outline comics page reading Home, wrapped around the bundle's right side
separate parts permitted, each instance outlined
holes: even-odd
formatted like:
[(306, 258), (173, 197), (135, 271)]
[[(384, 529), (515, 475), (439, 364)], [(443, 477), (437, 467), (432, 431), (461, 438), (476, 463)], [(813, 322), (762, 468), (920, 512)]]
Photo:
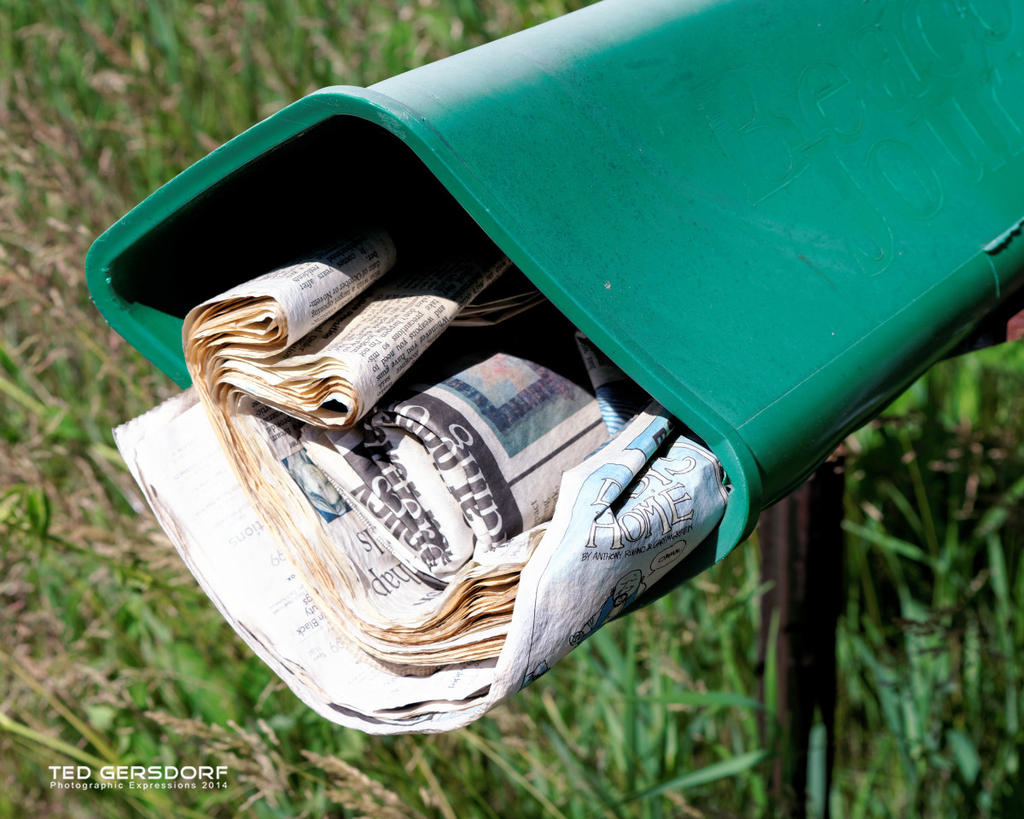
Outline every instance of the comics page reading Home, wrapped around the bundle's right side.
[(536, 680), (708, 537), (728, 500), (718, 459), (656, 402), (565, 473), (524, 567), (492, 699)]

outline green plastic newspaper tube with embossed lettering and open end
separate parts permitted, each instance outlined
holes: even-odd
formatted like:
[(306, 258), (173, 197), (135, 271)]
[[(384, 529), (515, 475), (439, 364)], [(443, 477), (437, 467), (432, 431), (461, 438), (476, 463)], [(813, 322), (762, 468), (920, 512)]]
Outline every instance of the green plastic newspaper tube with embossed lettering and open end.
[(468, 214), (722, 461), (691, 574), (1021, 284), (1022, 41), (1011, 0), (605, 0), (289, 105), (103, 233), (89, 287), (184, 386), (191, 305)]

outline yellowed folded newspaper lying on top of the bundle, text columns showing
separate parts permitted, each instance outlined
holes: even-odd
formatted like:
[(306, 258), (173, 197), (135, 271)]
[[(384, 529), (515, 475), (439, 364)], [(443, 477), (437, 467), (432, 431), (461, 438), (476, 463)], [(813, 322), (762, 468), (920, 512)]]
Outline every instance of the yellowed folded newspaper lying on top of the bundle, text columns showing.
[(227, 408), (249, 395), (307, 423), (350, 426), (510, 266), (441, 258), (356, 298), (395, 257), (390, 236), (372, 230), (190, 310), (182, 344), (200, 395)]

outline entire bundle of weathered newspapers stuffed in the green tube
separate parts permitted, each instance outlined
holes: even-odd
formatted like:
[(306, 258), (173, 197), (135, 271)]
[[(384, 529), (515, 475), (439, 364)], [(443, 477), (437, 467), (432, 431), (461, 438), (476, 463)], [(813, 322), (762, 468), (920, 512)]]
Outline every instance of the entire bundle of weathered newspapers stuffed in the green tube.
[(193, 387), (115, 430), (243, 640), (372, 733), (477, 719), (656, 585), (727, 500), (717, 459), (587, 339), (590, 383), (558, 372), (540, 297), (496, 249), (396, 257), (368, 230), (196, 307)]

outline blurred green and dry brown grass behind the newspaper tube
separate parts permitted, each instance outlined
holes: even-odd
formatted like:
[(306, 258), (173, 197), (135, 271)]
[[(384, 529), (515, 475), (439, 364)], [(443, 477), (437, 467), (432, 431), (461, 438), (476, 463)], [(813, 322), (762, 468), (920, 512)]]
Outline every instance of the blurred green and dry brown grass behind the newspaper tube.
[[(0, 0), (0, 816), (770, 815), (756, 538), (474, 727), (381, 739), (304, 708), (197, 590), (112, 426), (173, 386), (89, 304), (91, 241), (314, 88), (579, 0)], [(1013, 815), (1024, 353), (936, 368), (849, 441), (841, 817)], [(767, 715), (772, 724), (772, 715)], [(820, 736), (818, 736), (820, 738)], [(224, 764), (216, 791), (54, 791), (47, 766)]]

